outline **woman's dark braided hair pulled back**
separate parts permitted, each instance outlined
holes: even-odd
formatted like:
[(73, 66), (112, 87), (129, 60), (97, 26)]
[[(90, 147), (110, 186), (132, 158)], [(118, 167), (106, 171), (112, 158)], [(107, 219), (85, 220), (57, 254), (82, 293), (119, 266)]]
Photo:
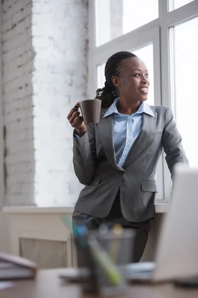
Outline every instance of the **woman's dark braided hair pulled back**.
[(112, 76), (120, 74), (120, 64), (128, 58), (137, 58), (131, 52), (118, 52), (112, 55), (105, 65), (105, 86), (96, 90), (95, 99), (102, 101), (102, 108), (110, 107), (114, 100), (119, 97), (118, 90), (112, 82)]

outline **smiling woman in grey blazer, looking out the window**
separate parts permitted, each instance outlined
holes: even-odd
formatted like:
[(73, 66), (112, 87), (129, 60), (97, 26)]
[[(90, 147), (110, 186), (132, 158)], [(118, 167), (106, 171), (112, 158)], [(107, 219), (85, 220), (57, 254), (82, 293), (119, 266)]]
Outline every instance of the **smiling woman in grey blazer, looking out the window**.
[(101, 223), (134, 228), (132, 261), (138, 262), (154, 218), (155, 173), (162, 149), (172, 177), (174, 165), (188, 159), (171, 109), (146, 103), (148, 70), (137, 56), (111, 56), (105, 78), (104, 88), (96, 91), (102, 101), (100, 123), (86, 127), (76, 108), (67, 116), (74, 127), (74, 171), (85, 185), (72, 220), (89, 229)]

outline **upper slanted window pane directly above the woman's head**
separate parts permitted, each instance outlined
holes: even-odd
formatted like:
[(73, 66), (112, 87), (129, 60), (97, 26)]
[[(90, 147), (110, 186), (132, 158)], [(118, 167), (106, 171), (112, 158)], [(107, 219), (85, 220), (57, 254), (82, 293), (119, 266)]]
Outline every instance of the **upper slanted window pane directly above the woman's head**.
[(158, 18), (158, 0), (95, 0), (96, 47)]

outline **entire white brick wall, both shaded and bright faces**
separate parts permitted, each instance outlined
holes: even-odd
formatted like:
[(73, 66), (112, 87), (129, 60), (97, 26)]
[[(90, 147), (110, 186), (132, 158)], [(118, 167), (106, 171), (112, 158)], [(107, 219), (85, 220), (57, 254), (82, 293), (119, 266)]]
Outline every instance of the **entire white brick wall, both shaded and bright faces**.
[(66, 115), (86, 97), (87, 35), (87, 0), (3, 3), (9, 205), (66, 205), (78, 197)]

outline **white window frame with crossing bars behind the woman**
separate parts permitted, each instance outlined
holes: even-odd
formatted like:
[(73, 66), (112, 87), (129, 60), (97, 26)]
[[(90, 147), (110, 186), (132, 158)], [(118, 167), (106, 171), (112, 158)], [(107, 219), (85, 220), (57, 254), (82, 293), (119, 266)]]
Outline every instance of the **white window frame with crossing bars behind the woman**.
[[(95, 46), (94, 0), (89, 0), (89, 56), (88, 85), (89, 98), (95, 97), (97, 89), (97, 65), (104, 63), (112, 54), (123, 50), (136, 50), (150, 42), (153, 43), (154, 96), (155, 105), (171, 107), (170, 88), (170, 49), (169, 28), (198, 16), (198, 0), (194, 0), (169, 12), (169, 0), (159, 0), (159, 17), (110, 42)], [(157, 185), (159, 194), (157, 203), (169, 203), (171, 194), (171, 176), (162, 153), (157, 168)]]

